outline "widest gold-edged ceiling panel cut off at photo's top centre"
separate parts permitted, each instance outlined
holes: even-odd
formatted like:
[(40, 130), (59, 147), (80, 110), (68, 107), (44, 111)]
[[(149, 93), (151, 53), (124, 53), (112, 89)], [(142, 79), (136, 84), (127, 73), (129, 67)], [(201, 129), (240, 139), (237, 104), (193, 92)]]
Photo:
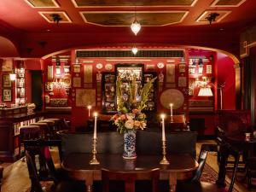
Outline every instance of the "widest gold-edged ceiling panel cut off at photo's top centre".
[(140, 0), (140, 1), (119, 1), (119, 0), (72, 0), (75, 7), (108, 7), (108, 6), (193, 6), (197, 0)]

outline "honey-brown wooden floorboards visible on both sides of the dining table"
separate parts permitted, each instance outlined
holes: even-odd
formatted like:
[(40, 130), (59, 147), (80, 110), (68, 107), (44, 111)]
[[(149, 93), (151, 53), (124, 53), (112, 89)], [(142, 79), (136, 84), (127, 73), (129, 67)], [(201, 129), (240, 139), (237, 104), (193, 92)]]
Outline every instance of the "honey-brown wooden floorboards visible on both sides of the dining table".
[[(196, 152), (197, 154), (200, 151), (202, 143), (214, 143), (212, 140), (200, 141), (196, 144)], [(55, 148), (52, 149), (52, 154), (54, 157), (57, 156), (57, 151)], [(54, 158), (55, 162), (58, 161), (58, 158)], [(218, 164), (217, 164), (217, 156), (216, 154), (208, 154), (207, 156), (207, 164), (212, 166), (212, 168), (218, 172)], [(3, 186), (2, 192), (25, 192), (26, 189), (30, 186), (30, 180), (28, 177), (26, 161), (18, 160), (14, 164), (4, 163), (1, 166), (4, 166), (3, 171)], [(236, 189), (241, 192), (247, 192), (247, 188), (244, 184), (241, 184), (236, 181), (235, 183)], [(253, 189), (252, 191), (256, 191)]]

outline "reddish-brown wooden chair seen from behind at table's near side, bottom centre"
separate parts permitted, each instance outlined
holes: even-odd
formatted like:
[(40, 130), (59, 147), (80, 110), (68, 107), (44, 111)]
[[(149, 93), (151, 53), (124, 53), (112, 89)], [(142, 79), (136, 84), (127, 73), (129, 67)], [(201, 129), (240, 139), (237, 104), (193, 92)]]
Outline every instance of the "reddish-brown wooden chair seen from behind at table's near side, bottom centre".
[[(159, 169), (152, 170), (136, 170), (130, 172), (121, 171), (110, 171), (107, 169), (102, 169), (102, 188), (103, 192), (113, 192), (114, 189), (110, 187), (110, 181), (123, 181), (125, 182), (125, 192), (135, 192), (135, 183), (137, 180), (151, 180), (152, 192), (158, 191), (158, 182), (160, 177)], [(111, 190), (110, 190), (111, 189)], [(117, 191), (120, 191), (117, 189)], [(148, 191), (148, 190), (147, 190)]]

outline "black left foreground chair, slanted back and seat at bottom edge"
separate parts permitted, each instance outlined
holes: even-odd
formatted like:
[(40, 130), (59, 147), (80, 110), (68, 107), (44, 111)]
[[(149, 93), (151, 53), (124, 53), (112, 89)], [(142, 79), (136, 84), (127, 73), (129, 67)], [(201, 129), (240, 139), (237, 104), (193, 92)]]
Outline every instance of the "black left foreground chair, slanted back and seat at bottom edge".
[(35, 161), (32, 159), (32, 156), (30, 155), (29, 151), (26, 151), (26, 163), (27, 163), (27, 169), (29, 172), (29, 178), (31, 179), (31, 192), (84, 192), (85, 191), (85, 185), (83, 182), (75, 182), (75, 181), (65, 181), (65, 182), (59, 182), (53, 186), (51, 186), (49, 189), (43, 190), (37, 168), (35, 165)]

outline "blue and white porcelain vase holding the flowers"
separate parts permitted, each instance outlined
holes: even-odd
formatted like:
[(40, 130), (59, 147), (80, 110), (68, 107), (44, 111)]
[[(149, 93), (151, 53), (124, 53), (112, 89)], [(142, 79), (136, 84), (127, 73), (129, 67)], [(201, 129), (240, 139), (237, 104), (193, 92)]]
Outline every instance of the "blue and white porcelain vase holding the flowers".
[(124, 159), (135, 159), (136, 154), (136, 131), (129, 130), (124, 133)]

